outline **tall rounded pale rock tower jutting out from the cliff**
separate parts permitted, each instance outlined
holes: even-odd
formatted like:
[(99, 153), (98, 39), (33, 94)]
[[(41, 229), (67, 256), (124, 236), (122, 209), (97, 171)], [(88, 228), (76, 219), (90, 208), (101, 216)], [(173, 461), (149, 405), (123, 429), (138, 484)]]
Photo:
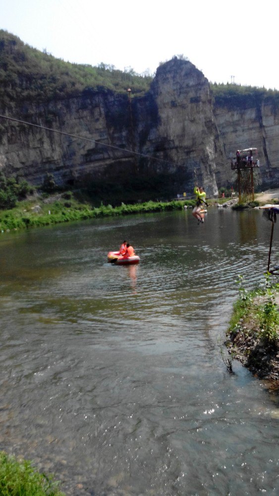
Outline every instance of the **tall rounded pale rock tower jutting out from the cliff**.
[(208, 195), (218, 193), (216, 152), (221, 143), (213, 116), (208, 80), (190, 62), (173, 59), (157, 69), (151, 88), (158, 107), (156, 133), (150, 133), (148, 148), (163, 148), (162, 157), (184, 171), (184, 188), (197, 180)]

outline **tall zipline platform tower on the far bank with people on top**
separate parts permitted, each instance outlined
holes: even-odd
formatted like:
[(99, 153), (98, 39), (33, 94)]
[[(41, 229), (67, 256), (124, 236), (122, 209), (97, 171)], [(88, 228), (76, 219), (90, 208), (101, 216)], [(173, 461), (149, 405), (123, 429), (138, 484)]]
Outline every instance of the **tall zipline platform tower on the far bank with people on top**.
[(253, 171), (260, 167), (260, 162), (254, 159), (253, 153), (257, 153), (257, 148), (237, 150), (231, 160), (231, 169), (237, 172), (238, 203), (254, 201)]

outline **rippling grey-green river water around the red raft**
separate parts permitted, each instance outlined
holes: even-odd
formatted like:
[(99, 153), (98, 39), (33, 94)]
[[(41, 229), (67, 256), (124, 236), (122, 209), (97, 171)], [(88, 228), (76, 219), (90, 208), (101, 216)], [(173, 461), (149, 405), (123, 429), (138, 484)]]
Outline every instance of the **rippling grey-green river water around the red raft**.
[[(270, 233), (213, 207), (2, 234), (0, 449), (67, 495), (278, 494), (279, 398), (220, 353)], [(139, 265), (107, 263), (123, 239)]]

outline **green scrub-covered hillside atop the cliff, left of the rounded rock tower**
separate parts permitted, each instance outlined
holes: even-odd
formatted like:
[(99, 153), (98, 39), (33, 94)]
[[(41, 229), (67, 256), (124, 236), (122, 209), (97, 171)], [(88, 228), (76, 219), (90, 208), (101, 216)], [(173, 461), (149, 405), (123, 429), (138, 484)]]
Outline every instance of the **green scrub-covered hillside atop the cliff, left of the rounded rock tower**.
[(127, 73), (105, 63), (93, 67), (64, 62), (24, 44), (17, 36), (0, 30), (2, 105), (24, 100), (46, 102), (67, 98), (80, 95), (88, 88), (126, 93), (127, 87), (132, 86), (133, 94), (140, 94), (149, 90), (152, 79), (151, 74), (140, 75), (133, 69)]

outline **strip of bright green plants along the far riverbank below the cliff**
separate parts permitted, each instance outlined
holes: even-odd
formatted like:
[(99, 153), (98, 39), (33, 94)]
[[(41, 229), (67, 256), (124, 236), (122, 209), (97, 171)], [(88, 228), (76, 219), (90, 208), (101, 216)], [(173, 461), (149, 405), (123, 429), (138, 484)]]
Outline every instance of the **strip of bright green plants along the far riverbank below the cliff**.
[(100, 217), (112, 217), (117, 215), (129, 215), (146, 212), (163, 212), (170, 210), (182, 210), (184, 205), (193, 206), (194, 200), (173, 200), (170, 202), (148, 201), (135, 205), (122, 203), (117, 207), (103, 205), (92, 207), (88, 203), (79, 203), (68, 193), (68, 198), (28, 200), (18, 202), (11, 210), (0, 211), (0, 231), (26, 229), (29, 227), (48, 226), (60, 222), (80, 221)]

